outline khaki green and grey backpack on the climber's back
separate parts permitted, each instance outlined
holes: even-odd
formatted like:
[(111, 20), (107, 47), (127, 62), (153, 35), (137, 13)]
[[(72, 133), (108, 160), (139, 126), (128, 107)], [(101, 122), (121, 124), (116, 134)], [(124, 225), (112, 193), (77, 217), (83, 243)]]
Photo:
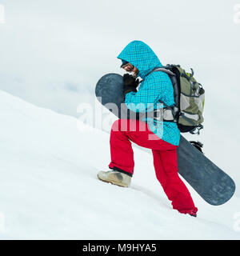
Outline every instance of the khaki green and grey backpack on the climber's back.
[(205, 90), (194, 78), (194, 70), (191, 69), (190, 74), (186, 73), (179, 65), (168, 64), (167, 66), (155, 68), (150, 73), (155, 71), (162, 71), (168, 74), (174, 86), (176, 106), (167, 106), (165, 102), (160, 101), (165, 108), (163, 121), (177, 122), (178, 129), (182, 133), (190, 132), (195, 134), (194, 131), (197, 130), (199, 134), (199, 130), (203, 128), (202, 112), (205, 102)]

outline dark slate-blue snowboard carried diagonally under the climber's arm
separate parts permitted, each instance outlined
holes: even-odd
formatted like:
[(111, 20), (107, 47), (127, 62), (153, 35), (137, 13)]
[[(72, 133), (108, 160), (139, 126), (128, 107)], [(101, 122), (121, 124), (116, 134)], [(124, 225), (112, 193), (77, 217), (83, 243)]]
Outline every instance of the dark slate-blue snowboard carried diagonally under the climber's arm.
[[(120, 74), (106, 74), (97, 82), (95, 94), (98, 101), (118, 118), (131, 118), (123, 98), (123, 79)], [(115, 105), (113, 105), (114, 103)], [(117, 106), (117, 107), (116, 107)], [(121, 107), (122, 106), (122, 109)], [(232, 178), (206, 158), (200, 150), (181, 135), (177, 150), (178, 174), (210, 205), (219, 206), (234, 194)]]

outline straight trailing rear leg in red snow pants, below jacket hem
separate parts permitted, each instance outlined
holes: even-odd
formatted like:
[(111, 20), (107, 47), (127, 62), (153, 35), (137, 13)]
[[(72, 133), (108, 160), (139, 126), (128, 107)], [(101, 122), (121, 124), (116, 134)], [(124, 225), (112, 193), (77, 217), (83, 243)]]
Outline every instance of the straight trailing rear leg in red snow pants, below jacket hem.
[(186, 185), (178, 176), (177, 147), (174, 150), (152, 150), (156, 177), (172, 206), (182, 214), (196, 214), (198, 208)]

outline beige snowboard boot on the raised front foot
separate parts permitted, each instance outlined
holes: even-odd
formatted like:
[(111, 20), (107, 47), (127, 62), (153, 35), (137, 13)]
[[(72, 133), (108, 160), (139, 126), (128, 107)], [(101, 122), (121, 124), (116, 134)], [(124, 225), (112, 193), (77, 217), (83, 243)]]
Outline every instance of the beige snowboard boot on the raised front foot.
[(99, 171), (98, 178), (102, 182), (110, 182), (118, 186), (130, 186), (131, 177), (127, 174), (123, 174), (118, 170)]

